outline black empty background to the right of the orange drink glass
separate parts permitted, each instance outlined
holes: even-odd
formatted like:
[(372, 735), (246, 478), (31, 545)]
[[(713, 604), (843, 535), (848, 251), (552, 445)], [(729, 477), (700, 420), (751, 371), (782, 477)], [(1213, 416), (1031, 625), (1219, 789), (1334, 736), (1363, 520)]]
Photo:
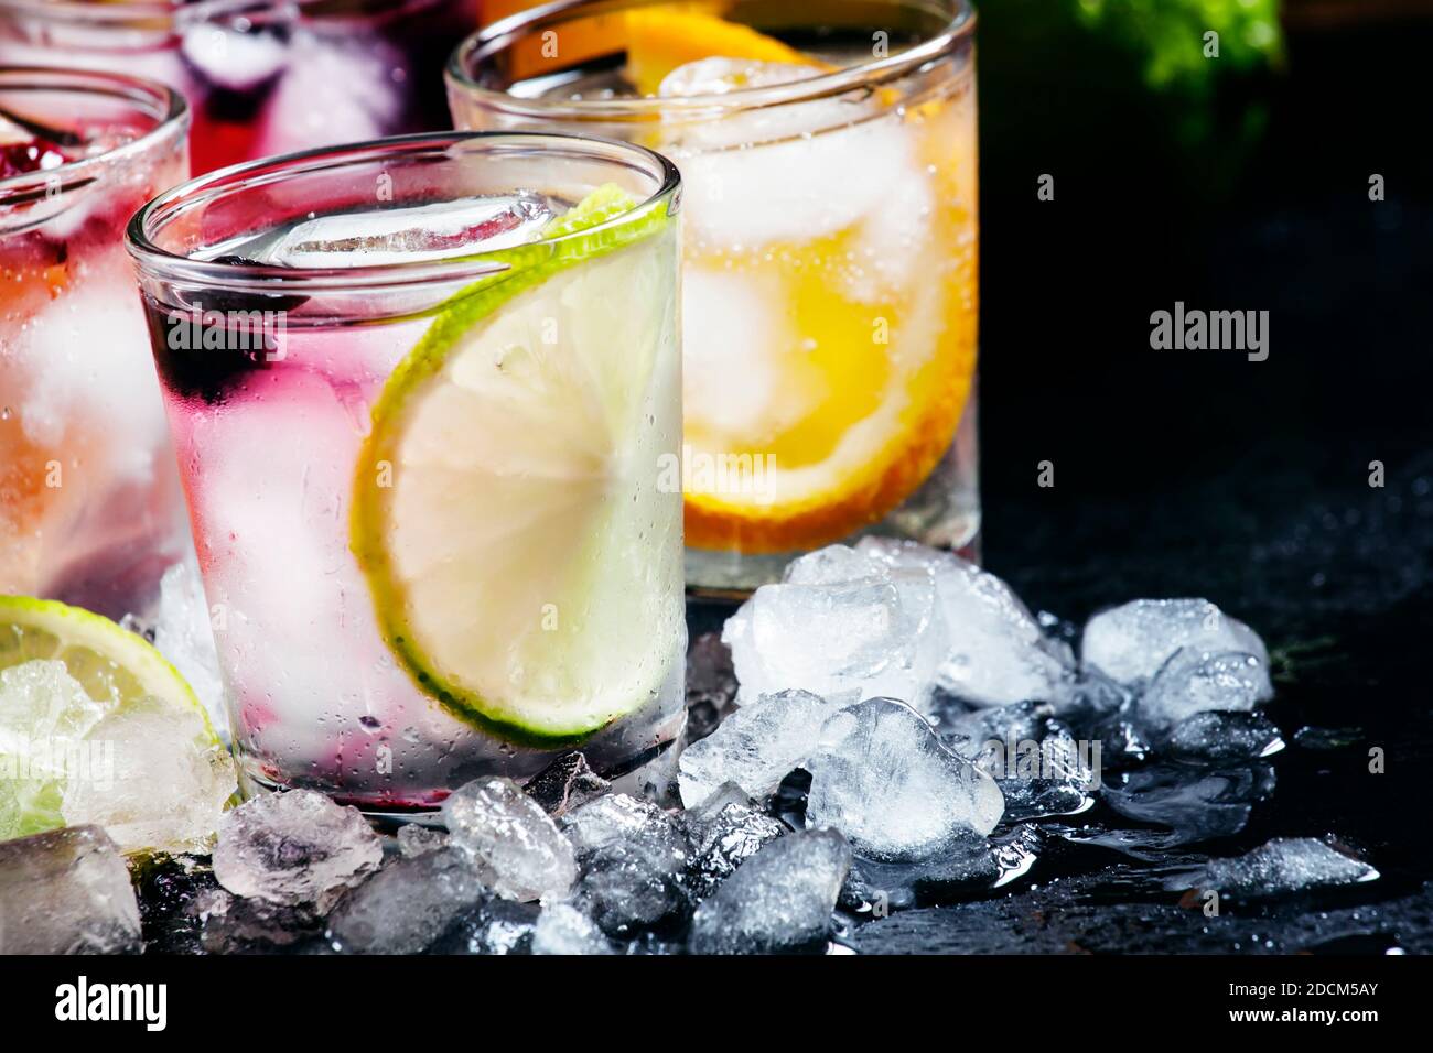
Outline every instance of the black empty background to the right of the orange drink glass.
[[(1333, 834), (1384, 872), (1360, 893), (1380, 901), (1433, 877), (1433, 7), (1326, 7), (1285, 4), (1283, 69), (1221, 86), (1192, 136), (1184, 102), (1106, 90), (1098, 49), (1030, 54), (982, 9), (983, 553), (1076, 622), (1192, 595), (1258, 629), (1291, 746), (1208, 851)], [(1268, 360), (1151, 350), (1176, 299), (1270, 311)], [(1305, 725), (1354, 744), (1304, 749)]]

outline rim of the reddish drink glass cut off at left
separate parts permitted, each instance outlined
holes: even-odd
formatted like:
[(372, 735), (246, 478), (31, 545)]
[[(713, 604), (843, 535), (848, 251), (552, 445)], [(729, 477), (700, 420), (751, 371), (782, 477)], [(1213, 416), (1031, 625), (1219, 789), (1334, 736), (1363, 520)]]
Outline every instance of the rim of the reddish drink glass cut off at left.
[[(24, 205), (56, 193), (67, 193), (103, 179), (103, 173), (116, 160), (128, 160), (149, 152), (156, 143), (172, 136), (179, 129), (179, 138), (188, 136), (189, 103), (182, 93), (146, 77), (132, 77), (128, 73), (103, 73), (99, 70), (73, 70), (56, 66), (0, 66), (0, 90), (34, 87), (36, 90), (107, 90), (113, 97), (133, 102), (136, 107), (153, 105), (156, 123), (142, 135), (115, 149), (96, 153), (93, 158), (69, 160), (56, 168), (36, 172), (21, 172), (0, 179), (0, 208)], [(59, 182), (59, 191), (53, 189)]]

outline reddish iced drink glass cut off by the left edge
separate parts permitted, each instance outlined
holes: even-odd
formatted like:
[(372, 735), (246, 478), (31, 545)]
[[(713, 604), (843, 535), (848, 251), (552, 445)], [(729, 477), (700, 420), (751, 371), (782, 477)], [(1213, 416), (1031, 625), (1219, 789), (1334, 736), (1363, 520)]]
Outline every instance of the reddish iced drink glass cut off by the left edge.
[(123, 245), (188, 123), (160, 85), (0, 69), (0, 593), (142, 615), (188, 553)]

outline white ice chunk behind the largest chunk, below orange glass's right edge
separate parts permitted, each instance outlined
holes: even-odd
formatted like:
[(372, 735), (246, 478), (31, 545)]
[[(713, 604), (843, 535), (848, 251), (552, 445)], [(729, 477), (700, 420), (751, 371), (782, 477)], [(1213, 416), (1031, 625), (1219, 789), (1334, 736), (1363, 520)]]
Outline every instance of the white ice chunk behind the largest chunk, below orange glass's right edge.
[(1069, 693), (1075, 660), (1066, 645), (1046, 638), (1010, 586), (973, 563), (939, 549), (888, 537), (864, 537), (858, 552), (893, 567), (926, 569), (947, 633), (940, 686), (973, 705), (1002, 706)]

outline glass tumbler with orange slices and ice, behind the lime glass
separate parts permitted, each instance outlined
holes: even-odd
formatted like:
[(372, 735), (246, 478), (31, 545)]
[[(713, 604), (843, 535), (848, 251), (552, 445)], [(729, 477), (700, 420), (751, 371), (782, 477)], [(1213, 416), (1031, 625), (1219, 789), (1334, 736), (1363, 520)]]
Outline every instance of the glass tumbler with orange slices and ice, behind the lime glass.
[(577, 0), (449, 63), (459, 128), (682, 170), (695, 592), (867, 533), (976, 543), (973, 33), (963, 0)]

